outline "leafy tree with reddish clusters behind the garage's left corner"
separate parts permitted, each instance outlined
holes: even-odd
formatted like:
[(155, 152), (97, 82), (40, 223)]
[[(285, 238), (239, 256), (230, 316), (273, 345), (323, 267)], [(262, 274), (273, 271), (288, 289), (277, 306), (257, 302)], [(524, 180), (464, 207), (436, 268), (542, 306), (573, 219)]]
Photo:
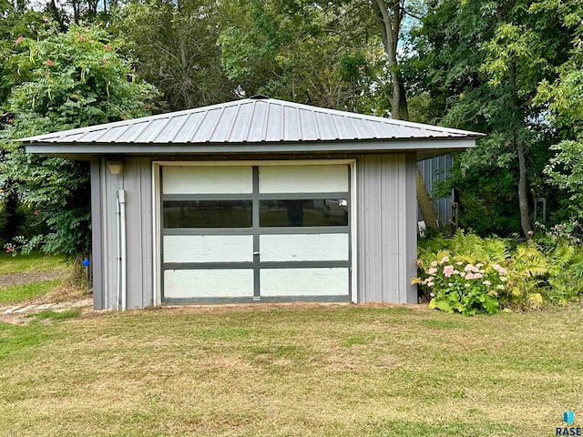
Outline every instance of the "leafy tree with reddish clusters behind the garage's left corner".
[(38, 39), (17, 38), (15, 54), (26, 82), (15, 86), (4, 110), (10, 123), (0, 132), (7, 157), (3, 178), (12, 178), (19, 195), (46, 218), (51, 233), (30, 241), (46, 251), (76, 254), (90, 241), (87, 165), (61, 158), (27, 155), (11, 140), (56, 130), (148, 115), (156, 90), (133, 74), (119, 56), (121, 41), (97, 25), (71, 25), (65, 33), (50, 23)]

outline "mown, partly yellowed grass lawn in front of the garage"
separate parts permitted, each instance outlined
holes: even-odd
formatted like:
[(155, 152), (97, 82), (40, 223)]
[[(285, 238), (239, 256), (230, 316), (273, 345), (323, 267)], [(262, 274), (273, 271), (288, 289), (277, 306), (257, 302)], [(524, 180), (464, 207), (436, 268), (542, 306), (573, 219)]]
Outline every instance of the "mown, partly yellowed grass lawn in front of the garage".
[(51, 319), (0, 324), (0, 435), (550, 436), (583, 413), (578, 309)]

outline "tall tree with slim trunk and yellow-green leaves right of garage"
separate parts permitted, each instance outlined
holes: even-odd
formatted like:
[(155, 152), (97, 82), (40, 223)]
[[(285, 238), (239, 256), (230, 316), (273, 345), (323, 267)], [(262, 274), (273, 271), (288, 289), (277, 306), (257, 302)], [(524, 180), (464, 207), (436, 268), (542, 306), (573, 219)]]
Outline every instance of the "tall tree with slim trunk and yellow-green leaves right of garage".
[(554, 136), (535, 98), (537, 85), (554, 75), (570, 46), (555, 17), (532, 4), (432, 3), (416, 40), (424, 90), (441, 107), (443, 123), (489, 134), (461, 157), (462, 167), (515, 175), (520, 228), (527, 238), (533, 231), (531, 190), (547, 189), (540, 157), (547, 156)]

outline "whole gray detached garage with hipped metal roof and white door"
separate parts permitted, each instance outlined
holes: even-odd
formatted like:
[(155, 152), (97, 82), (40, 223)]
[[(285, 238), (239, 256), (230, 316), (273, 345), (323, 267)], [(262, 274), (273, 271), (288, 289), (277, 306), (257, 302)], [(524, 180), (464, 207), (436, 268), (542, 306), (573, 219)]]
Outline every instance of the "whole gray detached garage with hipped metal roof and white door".
[(474, 132), (251, 97), (23, 140), (91, 162), (96, 309), (415, 302), (416, 161)]

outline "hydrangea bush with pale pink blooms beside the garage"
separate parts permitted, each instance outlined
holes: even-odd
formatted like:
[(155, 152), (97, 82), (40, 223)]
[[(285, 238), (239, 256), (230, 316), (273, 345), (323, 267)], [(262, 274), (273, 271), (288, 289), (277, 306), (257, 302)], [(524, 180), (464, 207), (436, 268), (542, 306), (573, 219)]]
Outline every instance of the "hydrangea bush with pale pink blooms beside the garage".
[(501, 265), (473, 264), (448, 256), (434, 259), (428, 266), (421, 260), (418, 264), (421, 275), (413, 283), (430, 290), (429, 308), (465, 316), (498, 312), (498, 297), (506, 290), (508, 273)]

